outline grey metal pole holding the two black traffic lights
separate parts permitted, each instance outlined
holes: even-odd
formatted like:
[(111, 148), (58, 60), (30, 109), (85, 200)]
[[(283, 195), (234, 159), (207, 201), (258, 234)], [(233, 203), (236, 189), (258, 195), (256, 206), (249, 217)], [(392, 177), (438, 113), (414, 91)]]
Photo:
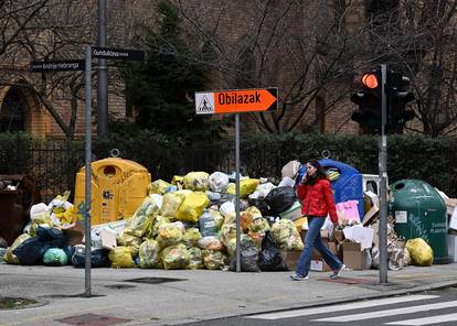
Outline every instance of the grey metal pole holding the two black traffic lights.
[(380, 283), (387, 283), (387, 97), (386, 80), (387, 66), (381, 65), (381, 137), (379, 144), (379, 173), (380, 173)]

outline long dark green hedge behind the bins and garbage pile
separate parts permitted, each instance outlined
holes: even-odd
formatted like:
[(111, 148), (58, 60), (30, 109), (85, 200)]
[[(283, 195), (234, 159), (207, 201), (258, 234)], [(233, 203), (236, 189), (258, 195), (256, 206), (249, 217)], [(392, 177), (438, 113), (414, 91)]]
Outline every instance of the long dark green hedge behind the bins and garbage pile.
[[(344, 162), (364, 174), (378, 174), (378, 137), (289, 133), (242, 137), (242, 173), (253, 177), (280, 177), (290, 160), (305, 162), (322, 157)], [(118, 149), (120, 156), (146, 166), (152, 180), (170, 181), (190, 171), (232, 172), (234, 141), (184, 145), (172, 138), (150, 131), (110, 134), (93, 140), (94, 160), (109, 157)], [(454, 138), (391, 135), (387, 139), (390, 183), (418, 178), (457, 197), (457, 142)], [(73, 189), (76, 171), (84, 165), (84, 141), (33, 140), (24, 133), (0, 133), (0, 174), (31, 173), (40, 186), (56, 194)]]

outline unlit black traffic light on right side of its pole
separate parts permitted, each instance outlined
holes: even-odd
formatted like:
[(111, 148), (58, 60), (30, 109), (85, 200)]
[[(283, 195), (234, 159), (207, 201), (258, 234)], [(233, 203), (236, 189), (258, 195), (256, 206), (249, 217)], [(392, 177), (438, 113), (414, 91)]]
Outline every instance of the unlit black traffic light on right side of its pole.
[(414, 100), (414, 95), (407, 91), (410, 78), (401, 73), (390, 70), (386, 84), (389, 129), (403, 129), (406, 121), (415, 116), (413, 110), (407, 110), (405, 107)]

